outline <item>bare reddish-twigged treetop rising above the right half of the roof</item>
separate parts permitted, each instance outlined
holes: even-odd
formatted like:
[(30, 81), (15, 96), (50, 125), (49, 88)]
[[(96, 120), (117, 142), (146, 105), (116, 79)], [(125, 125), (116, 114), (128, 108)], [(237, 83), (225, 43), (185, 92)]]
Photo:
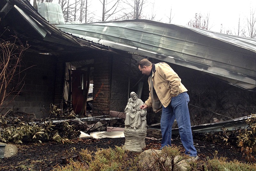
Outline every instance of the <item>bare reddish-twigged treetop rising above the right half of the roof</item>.
[(194, 20), (191, 19), (188, 22), (188, 26), (195, 27), (195, 28), (201, 28), (201, 29), (205, 29), (205, 30), (210, 30), (209, 20), (210, 20), (210, 14), (207, 14), (207, 16), (205, 16), (205, 18), (203, 18), (201, 13), (199, 13), (199, 14), (196, 13), (195, 19)]

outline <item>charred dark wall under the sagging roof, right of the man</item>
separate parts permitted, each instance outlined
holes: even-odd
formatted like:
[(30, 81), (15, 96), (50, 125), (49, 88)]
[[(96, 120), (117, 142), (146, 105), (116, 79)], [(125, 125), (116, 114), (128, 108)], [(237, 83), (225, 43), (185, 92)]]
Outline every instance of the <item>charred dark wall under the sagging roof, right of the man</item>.
[(170, 66), (188, 89), (192, 125), (213, 122), (214, 117), (229, 120), (256, 113), (256, 92), (235, 87), (190, 68)]

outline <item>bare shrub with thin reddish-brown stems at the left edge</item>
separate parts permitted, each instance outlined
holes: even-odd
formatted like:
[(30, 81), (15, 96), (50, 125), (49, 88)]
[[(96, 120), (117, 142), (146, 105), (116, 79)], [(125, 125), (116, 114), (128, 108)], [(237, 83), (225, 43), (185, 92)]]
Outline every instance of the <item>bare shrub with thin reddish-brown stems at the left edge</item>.
[(16, 36), (8, 40), (0, 39), (0, 112), (20, 93), (24, 85), (24, 77), (20, 78), (20, 67), (22, 54), (27, 49), (28, 44), (23, 46)]

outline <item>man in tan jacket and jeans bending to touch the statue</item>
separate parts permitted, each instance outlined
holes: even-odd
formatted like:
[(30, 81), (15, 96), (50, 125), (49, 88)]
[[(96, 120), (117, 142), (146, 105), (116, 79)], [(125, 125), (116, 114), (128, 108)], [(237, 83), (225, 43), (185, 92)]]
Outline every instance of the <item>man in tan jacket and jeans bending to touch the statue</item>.
[(180, 77), (164, 62), (152, 64), (149, 60), (142, 59), (138, 67), (142, 74), (149, 76), (148, 85), (150, 91), (148, 100), (143, 105), (140, 105), (140, 108), (152, 107), (155, 112), (160, 111), (162, 108), (160, 121), (162, 132), (161, 149), (164, 146), (171, 146), (172, 124), (176, 117), (185, 154), (197, 159), (188, 111), (188, 90), (181, 83)]

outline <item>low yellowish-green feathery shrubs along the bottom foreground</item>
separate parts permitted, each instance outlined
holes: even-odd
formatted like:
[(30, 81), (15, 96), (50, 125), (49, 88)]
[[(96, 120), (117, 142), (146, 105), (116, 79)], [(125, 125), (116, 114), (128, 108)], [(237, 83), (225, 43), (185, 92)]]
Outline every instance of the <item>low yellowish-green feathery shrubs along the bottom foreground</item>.
[[(74, 149), (76, 150), (76, 149)], [(129, 157), (128, 152), (125, 152), (122, 147), (117, 147), (115, 149), (108, 148), (108, 149), (102, 149), (98, 148), (96, 152), (91, 152), (88, 149), (82, 149), (81, 152), (79, 152), (79, 156), (74, 161), (71, 159), (72, 156), (71, 152), (67, 152), (67, 157), (69, 158), (66, 166), (58, 166), (53, 169), (53, 171), (125, 171), (125, 170), (148, 170), (147, 167), (140, 167), (139, 168), (139, 159), (137, 155), (132, 155), (135, 157)], [(155, 165), (158, 165), (157, 167), (150, 167), (150, 168), (156, 168), (155, 170), (162, 170), (162, 171), (168, 171), (178, 169), (175, 165), (172, 166), (172, 168), (167, 167), (160, 167), (164, 166), (164, 163), (162, 162), (164, 158), (174, 159), (177, 155), (180, 154), (180, 149), (176, 147), (167, 147), (162, 150), (160, 154), (156, 154), (156, 159), (161, 160), (161, 162), (154, 161)], [(186, 156), (180, 155), (179, 161), (186, 159)], [(166, 161), (167, 162), (167, 161)], [(169, 162), (169, 161), (168, 161)], [(178, 162), (178, 161), (177, 161)], [(157, 169), (158, 168), (158, 169)], [(149, 169), (152, 170), (152, 169)], [(206, 162), (203, 160), (196, 161), (196, 162), (190, 162), (190, 165), (188, 166), (187, 170), (204, 170), (204, 171), (255, 171), (256, 170), (256, 164), (245, 164), (241, 163), (237, 160), (234, 161), (227, 161), (227, 158), (218, 158), (217, 157), (217, 151), (214, 155), (213, 159), (207, 159)]]

